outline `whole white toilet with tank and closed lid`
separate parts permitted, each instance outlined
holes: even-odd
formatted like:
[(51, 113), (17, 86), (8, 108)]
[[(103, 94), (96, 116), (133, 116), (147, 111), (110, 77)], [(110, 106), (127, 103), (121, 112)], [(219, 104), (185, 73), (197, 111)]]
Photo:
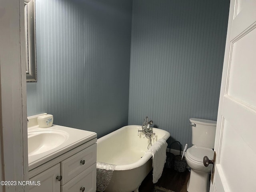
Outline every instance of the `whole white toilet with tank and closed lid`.
[(185, 156), (188, 166), (190, 166), (190, 179), (187, 184), (188, 192), (208, 192), (209, 174), (212, 165), (204, 166), (203, 158), (208, 156), (213, 159), (213, 148), (216, 132), (216, 121), (190, 118), (192, 125), (192, 144), (188, 148)]

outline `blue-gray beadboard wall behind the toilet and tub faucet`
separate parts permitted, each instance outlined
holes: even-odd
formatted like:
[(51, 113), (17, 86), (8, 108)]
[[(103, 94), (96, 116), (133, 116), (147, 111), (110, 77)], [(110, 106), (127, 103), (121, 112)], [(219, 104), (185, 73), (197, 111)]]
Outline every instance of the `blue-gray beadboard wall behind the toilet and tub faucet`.
[(189, 118), (216, 120), (228, 0), (134, 0), (128, 124), (145, 116), (191, 145)]

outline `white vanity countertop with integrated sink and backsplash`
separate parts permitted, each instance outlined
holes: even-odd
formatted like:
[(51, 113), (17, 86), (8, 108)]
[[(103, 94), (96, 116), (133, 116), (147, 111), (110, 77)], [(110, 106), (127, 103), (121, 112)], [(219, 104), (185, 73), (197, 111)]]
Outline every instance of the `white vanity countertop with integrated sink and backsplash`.
[(95, 132), (60, 125), (40, 128), (37, 125), (37, 117), (38, 115), (28, 119), (28, 170), (97, 137)]

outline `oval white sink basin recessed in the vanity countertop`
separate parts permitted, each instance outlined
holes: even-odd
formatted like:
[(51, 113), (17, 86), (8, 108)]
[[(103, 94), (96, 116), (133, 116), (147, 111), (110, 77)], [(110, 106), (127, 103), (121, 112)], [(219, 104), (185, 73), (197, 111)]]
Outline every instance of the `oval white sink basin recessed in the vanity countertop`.
[(68, 140), (68, 133), (61, 130), (36, 130), (28, 132), (28, 156), (50, 151)]

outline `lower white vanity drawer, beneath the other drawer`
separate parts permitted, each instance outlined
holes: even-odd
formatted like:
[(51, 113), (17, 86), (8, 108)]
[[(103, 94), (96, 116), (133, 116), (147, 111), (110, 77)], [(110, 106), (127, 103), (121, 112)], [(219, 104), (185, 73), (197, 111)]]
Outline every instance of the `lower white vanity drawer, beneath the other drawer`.
[(95, 192), (96, 191), (96, 163), (80, 173), (78, 176), (61, 186), (62, 192)]

